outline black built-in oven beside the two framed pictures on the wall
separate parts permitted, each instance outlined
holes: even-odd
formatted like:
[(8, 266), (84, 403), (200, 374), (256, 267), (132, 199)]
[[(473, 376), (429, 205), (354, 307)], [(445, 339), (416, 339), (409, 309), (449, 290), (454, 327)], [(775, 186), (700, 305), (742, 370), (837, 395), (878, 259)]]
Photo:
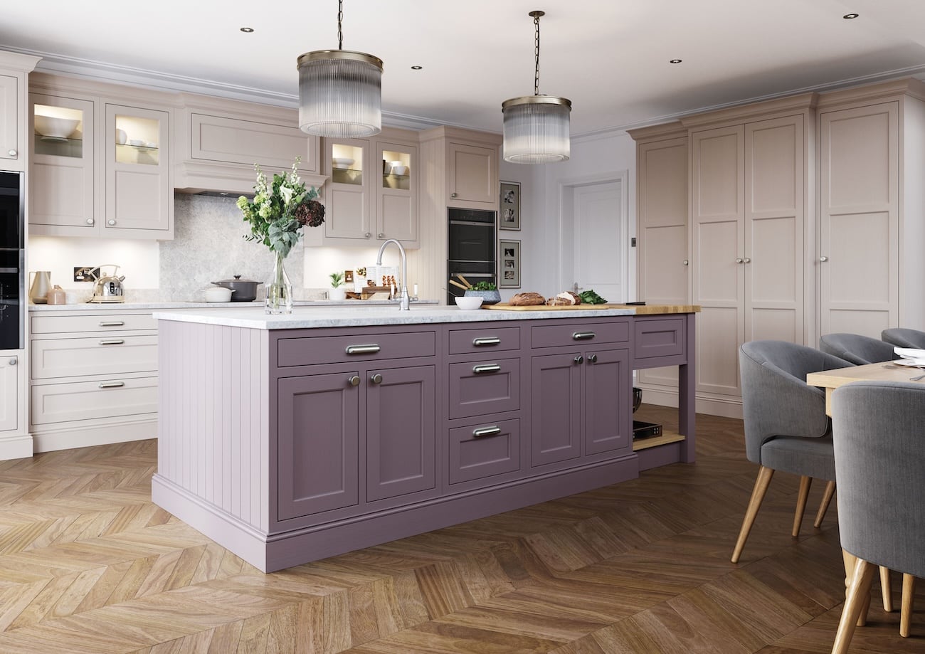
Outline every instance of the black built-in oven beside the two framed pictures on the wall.
[[(448, 278), (459, 281), (462, 275), (471, 284), (496, 284), (497, 213), (450, 207), (448, 217)], [(448, 284), (447, 303), (452, 304), (453, 298), (462, 293), (459, 287)]]

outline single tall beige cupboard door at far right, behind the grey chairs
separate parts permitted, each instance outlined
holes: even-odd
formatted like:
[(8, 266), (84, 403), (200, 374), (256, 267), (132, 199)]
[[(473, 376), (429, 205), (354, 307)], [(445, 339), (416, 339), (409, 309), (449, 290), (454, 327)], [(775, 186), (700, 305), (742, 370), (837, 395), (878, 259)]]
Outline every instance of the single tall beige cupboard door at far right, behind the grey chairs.
[(821, 114), (820, 162), (821, 333), (880, 338), (898, 325), (897, 103)]

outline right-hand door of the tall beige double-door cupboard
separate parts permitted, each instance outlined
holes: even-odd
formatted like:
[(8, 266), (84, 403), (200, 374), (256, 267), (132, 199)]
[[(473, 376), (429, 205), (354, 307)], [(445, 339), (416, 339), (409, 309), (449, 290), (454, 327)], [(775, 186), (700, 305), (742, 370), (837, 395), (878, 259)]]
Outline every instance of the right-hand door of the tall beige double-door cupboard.
[(744, 340), (803, 342), (803, 117), (746, 124)]

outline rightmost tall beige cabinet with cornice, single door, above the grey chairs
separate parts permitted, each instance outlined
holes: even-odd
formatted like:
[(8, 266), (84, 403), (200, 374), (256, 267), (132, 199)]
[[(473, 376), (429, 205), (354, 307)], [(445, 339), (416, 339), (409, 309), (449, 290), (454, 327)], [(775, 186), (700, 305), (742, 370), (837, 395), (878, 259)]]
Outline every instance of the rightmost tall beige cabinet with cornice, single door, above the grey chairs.
[(822, 334), (925, 328), (923, 100), (918, 80), (820, 97)]

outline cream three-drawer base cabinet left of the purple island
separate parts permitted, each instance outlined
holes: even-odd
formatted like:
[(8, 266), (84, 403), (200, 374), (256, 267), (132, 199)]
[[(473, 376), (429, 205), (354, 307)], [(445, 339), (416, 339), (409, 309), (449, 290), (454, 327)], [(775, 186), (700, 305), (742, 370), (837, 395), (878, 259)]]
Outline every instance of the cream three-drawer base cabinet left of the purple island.
[(157, 325), (149, 313), (32, 312), (35, 451), (154, 438)]

